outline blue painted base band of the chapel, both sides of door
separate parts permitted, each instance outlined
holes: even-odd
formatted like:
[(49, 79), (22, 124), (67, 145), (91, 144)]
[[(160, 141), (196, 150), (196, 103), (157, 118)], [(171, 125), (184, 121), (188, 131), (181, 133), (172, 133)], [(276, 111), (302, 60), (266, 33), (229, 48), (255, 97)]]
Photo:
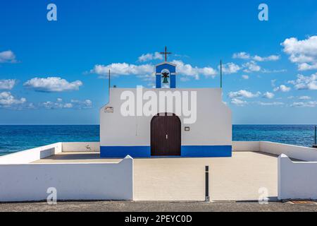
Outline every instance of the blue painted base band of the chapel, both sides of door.
[[(231, 157), (232, 145), (182, 145), (180, 157)], [(100, 157), (151, 157), (150, 146), (101, 146)], [(175, 157), (175, 156), (174, 156)]]

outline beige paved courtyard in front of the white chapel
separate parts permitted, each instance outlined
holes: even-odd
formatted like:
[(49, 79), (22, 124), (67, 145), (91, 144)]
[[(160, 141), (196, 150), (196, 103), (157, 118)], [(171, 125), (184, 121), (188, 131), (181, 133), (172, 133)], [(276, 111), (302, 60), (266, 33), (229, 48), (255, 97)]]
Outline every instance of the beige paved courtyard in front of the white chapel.
[[(36, 162), (119, 162), (99, 153), (61, 153)], [(278, 196), (278, 158), (256, 152), (233, 152), (232, 157), (139, 158), (134, 161), (136, 201), (204, 201), (205, 165), (210, 170), (213, 201), (258, 200), (265, 188), (270, 200)]]

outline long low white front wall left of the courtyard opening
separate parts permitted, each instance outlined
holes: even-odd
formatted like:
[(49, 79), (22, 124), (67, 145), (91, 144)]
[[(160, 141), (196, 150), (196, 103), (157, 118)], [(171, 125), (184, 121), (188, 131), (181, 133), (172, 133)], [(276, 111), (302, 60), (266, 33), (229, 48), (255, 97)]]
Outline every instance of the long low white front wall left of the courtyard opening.
[(49, 187), (58, 200), (132, 200), (133, 160), (0, 165), (0, 201), (46, 200)]

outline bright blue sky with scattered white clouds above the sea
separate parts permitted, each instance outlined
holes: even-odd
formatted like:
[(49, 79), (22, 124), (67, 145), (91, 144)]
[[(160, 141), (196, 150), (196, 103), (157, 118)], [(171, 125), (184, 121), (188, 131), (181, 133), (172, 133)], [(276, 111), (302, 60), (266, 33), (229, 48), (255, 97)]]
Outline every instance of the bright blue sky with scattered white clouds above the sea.
[(1, 1), (0, 124), (99, 124), (104, 72), (151, 87), (165, 46), (180, 88), (218, 87), (223, 60), (234, 124), (317, 124), (316, 28), (313, 0)]

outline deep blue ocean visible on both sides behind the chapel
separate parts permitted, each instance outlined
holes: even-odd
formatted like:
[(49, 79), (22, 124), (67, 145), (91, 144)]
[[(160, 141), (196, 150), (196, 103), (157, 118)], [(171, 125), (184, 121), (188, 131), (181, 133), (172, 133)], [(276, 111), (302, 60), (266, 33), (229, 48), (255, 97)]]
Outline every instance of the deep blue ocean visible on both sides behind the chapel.
[[(61, 141), (99, 141), (99, 125), (0, 126), (0, 155)], [(311, 147), (314, 125), (233, 125), (232, 141), (273, 141)]]

